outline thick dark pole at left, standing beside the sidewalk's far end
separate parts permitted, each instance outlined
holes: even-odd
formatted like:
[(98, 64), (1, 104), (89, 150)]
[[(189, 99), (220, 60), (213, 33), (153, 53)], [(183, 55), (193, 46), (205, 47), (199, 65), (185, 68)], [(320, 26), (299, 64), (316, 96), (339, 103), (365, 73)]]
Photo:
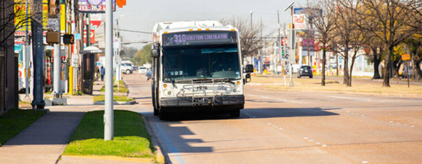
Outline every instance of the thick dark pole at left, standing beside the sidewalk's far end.
[[(43, 109), (45, 102), (43, 100), (43, 1), (33, 0), (31, 13), (34, 15), (31, 19), (32, 26), (32, 55), (34, 65), (34, 89), (32, 108)], [(59, 58), (60, 59), (60, 58)]]

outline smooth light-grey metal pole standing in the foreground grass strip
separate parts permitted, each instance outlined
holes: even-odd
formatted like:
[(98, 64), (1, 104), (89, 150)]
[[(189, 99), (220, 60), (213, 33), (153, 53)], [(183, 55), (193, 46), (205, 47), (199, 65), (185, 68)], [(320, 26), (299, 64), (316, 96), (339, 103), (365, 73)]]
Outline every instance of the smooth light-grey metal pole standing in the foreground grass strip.
[(113, 140), (113, 0), (106, 0), (106, 97), (104, 105), (104, 140)]

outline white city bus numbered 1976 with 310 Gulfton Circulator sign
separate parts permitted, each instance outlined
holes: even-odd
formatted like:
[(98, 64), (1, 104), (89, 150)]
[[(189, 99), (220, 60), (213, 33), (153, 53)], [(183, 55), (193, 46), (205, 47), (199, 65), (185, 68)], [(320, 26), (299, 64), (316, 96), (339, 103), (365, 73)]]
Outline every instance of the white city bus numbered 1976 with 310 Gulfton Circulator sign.
[(235, 27), (217, 21), (157, 23), (151, 56), (154, 115), (219, 110), (239, 117), (253, 66), (242, 71)]

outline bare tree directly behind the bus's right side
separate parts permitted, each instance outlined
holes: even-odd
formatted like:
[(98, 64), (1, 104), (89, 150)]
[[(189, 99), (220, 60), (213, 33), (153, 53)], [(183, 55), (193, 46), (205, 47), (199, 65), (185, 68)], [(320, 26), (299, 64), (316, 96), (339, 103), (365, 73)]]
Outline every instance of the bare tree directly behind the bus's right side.
[[(251, 57), (258, 54), (258, 51), (264, 46), (261, 44), (261, 25), (254, 24), (251, 27), (251, 22), (246, 17), (233, 16), (229, 19), (222, 19), (222, 24), (233, 25), (238, 28), (240, 32), (240, 43), (242, 52), (242, 62), (245, 57)], [(265, 25), (262, 25), (265, 27)], [(266, 38), (271, 34), (264, 35)]]

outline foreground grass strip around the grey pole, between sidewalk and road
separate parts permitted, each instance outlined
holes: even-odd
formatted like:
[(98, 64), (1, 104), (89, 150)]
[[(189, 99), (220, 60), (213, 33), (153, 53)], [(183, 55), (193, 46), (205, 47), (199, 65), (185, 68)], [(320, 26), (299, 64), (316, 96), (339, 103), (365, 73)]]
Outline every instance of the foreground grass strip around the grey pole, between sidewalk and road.
[(63, 155), (154, 157), (154, 146), (139, 113), (114, 110), (114, 140), (104, 141), (104, 110), (87, 112)]

